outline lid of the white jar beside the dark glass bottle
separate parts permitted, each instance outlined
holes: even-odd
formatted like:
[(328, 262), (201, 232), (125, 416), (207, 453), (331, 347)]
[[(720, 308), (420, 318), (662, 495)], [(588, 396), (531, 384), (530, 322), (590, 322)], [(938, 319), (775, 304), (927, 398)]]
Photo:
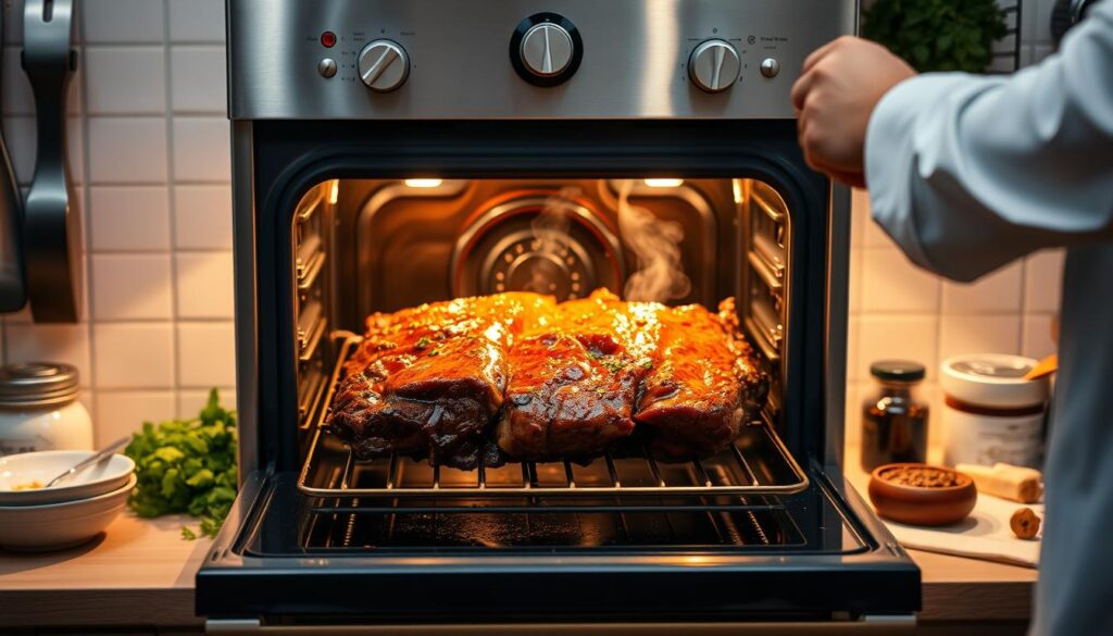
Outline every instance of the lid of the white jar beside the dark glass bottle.
[(1031, 407), (1047, 401), (1047, 378), (1024, 376), (1036, 361), (1021, 355), (971, 353), (939, 365), (939, 387), (952, 398), (975, 405)]

